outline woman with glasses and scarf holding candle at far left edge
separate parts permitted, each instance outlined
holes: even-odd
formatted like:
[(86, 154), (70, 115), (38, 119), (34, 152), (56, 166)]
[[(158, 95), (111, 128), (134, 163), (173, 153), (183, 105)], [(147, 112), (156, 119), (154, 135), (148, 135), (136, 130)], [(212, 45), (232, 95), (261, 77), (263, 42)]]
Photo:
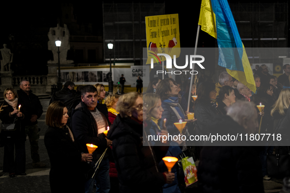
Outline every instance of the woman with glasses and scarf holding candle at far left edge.
[[(0, 105), (0, 120), (2, 124), (15, 123), (14, 131), (1, 130), (1, 140), (4, 145), (3, 172), (9, 177), (26, 175), (25, 129), (22, 127), (24, 114), (19, 110), (18, 95), (13, 88), (7, 88), (4, 93), (4, 102)], [(15, 159), (14, 159), (15, 147)]]

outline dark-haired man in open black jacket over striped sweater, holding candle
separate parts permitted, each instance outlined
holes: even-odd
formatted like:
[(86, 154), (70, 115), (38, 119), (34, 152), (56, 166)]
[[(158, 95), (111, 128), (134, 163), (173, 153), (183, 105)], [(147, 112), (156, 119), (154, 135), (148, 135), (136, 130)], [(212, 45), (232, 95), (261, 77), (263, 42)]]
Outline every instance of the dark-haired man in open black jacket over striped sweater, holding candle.
[[(93, 153), (94, 167), (96, 162), (105, 152), (99, 169), (95, 174), (97, 191), (108, 193), (110, 190), (109, 160), (108, 151), (112, 141), (104, 137), (103, 132), (108, 127), (108, 122), (102, 110), (98, 109), (97, 89), (93, 85), (86, 85), (81, 89), (81, 102), (72, 112), (72, 132), (81, 152), (87, 153), (86, 144), (97, 145), (98, 148)], [(93, 189), (93, 179), (85, 182), (85, 192), (91, 193)]]

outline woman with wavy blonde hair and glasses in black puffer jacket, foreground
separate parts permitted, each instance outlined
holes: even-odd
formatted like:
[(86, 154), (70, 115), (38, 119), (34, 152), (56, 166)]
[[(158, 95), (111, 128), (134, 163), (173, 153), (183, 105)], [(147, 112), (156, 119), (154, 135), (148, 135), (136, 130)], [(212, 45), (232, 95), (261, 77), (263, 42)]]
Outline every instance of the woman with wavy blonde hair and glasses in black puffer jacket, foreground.
[(122, 95), (116, 110), (119, 114), (107, 137), (113, 141), (120, 193), (160, 192), (162, 185), (174, 180), (174, 174), (158, 172), (158, 162), (167, 150), (155, 152), (143, 138), (142, 97), (138, 93)]

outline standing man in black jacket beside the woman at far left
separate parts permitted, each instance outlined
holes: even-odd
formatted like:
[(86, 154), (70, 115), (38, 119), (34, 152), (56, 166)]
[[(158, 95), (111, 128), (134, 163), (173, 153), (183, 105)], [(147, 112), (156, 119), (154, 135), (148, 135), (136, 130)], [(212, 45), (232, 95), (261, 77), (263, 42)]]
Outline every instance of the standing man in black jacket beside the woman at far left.
[(21, 112), (25, 115), (23, 127), (29, 138), (32, 166), (35, 168), (43, 168), (46, 165), (40, 162), (38, 154), (39, 130), (37, 125), (37, 119), (43, 113), (42, 105), (38, 96), (32, 94), (30, 82), (26, 79), (21, 80), (20, 89), (17, 91), (17, 94), (19, 104), (21, 105)]

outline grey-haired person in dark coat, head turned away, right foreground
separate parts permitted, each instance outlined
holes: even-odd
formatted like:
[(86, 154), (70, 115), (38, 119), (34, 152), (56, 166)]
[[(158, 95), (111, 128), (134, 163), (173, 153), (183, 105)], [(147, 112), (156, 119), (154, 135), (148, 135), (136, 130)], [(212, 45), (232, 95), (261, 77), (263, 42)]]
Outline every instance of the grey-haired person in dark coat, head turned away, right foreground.
[[(253, 102), (237, 101), (226, 116), (211, 120), (212, 134), (250, 135), (258, 132), (257, 111)], [(238, 135), (239, 137), (239, 135)], [(203, 193), (264, 193), (258, 149), (246, 140), (215, 142), (201, 150), (198, 186)], [(211, 146), (210, 146), (211, 145)], [(251, 144), (252, 145), (252, 144)]]

